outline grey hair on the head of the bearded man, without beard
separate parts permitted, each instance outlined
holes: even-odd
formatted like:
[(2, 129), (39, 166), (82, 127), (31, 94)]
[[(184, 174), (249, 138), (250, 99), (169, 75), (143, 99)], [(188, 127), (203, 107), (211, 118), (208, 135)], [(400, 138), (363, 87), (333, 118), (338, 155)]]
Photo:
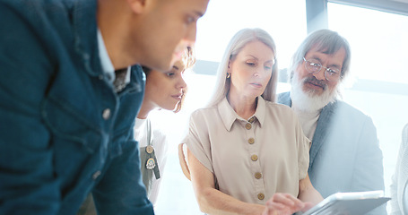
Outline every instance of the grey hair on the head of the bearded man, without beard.
[(316, 30), (303, 40), (298, 47), (298, 50), (296, 50), (295, 54), (292, 56), (291, 64), (289, 66), (289, 81), (291, 82), (293, 73), (298, 65), (303, 63), (303, 57), (306, 56), (308, 51), (313, 47), (317, 47), (318, 51), (327, 55), (334, 54), (342, 47), (344, 48), (345, 57), (340, 78), (340, 80), (343, 80), (350, 70), (351, 51), (349, 42), (333, 30)]

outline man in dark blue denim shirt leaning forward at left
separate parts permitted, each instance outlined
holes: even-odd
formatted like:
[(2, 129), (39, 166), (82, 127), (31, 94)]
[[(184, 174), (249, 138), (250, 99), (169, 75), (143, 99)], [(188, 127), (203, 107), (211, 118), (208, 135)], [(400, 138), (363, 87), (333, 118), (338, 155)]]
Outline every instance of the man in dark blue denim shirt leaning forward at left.
[(88, 193), (100, 214), (153, 213), (136, 64), (169, 70), (207, 4), (0, 0), (0, 214), (75, 214)]

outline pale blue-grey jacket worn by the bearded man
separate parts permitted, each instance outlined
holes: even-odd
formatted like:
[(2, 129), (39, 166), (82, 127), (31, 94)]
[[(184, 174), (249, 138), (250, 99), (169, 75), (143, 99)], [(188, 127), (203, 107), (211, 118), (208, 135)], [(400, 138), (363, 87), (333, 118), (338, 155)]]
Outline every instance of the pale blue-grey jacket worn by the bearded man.
[[(290, 93), (279, 94), (278, 103), (291, 107)], [(340, 100), (323, 107), (309, 151), (308, 176), (324, 198), (384, 190), (383, 154), (371, 118)], [(386, 204), (369, 214), (386, 214)]]

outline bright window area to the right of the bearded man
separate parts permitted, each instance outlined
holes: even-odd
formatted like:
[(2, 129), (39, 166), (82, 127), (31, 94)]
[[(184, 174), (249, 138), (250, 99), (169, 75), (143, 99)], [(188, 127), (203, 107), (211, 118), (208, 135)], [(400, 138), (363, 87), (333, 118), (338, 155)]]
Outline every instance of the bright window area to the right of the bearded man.
[(408, 16), (328, 4), (328, 23), (352, 47), (352, 81), (344, 100), (372, 117), (384, 156), (389, 195), (401, 133), (408, 123)]

